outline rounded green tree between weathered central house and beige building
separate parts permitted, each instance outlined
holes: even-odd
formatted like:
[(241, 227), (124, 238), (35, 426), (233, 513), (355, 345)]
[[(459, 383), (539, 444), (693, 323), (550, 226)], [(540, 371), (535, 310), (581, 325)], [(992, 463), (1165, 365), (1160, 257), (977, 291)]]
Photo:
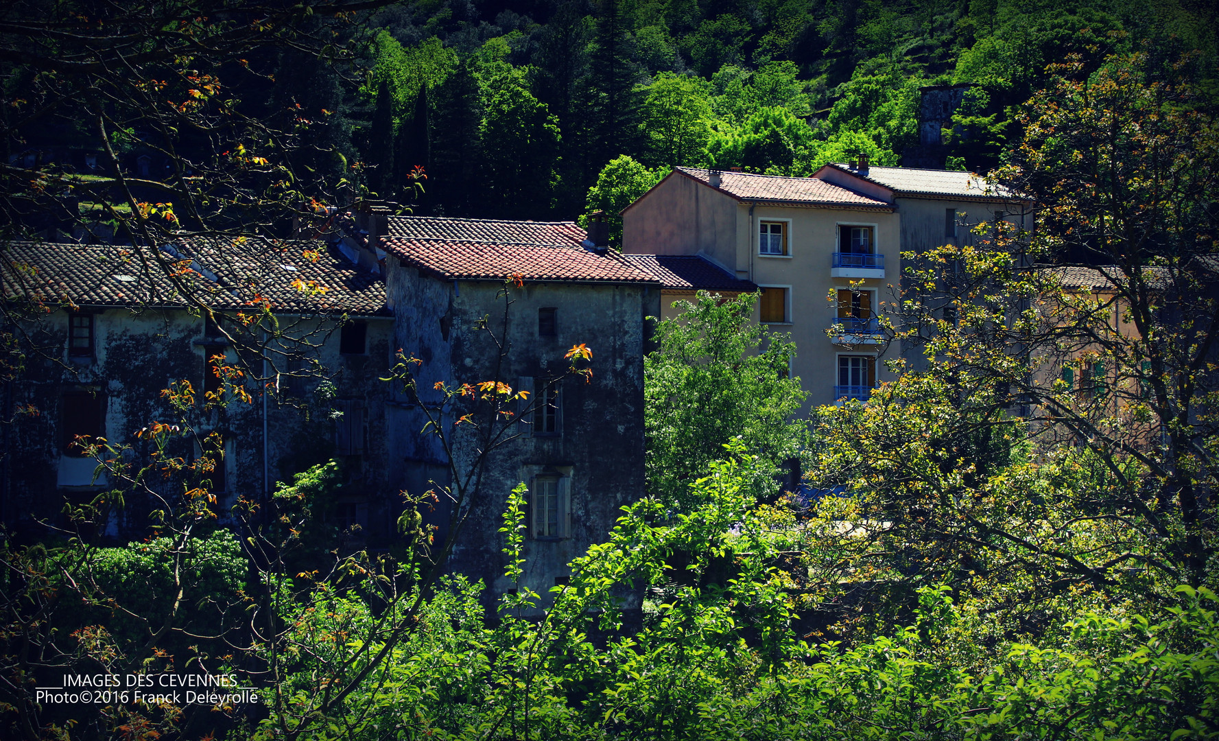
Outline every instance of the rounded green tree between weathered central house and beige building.
[(739, 439), (758, 456), (755, 496), (773, 495), (780, 466), (805, 452), (806, 423), (794, 419), (806, 394), (789, 377), (787, 335), (752, 323), (756, 296), (700, 292), (679, 301), (675, 319), (656, 328), (658, 349), (644, 358), (647, 486), (666, 506), (692, 506), (690, 485)]

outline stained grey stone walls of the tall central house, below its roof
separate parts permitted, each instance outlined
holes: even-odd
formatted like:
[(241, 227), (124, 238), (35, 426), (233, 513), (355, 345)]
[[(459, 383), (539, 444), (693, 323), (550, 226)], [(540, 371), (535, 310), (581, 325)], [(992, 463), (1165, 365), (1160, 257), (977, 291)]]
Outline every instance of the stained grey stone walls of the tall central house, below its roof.
[[(397, 340), (423, 361), (417, 377), (424, 394), (440, 380), (462, 384), (499, 377), (519, 388), (533, 378), (561, 375), (567, 367), (563, 355), (573, 345), (584, 342), (592, 350), (591, 381), (561, 381), (560, 434), (535, 435), (529, 424), (517, 422), (508, 433), (511, 439), (489, 456), (451, 562), (455, 572), (489, 585), (488, 602), (516, 589), (502, 576), (505, 539), (499, 529), (507, 495), (521, 481), (533, 486), (539, 474), (561, 475), (569, 492), (569, 537), (544, 540), (530, 534), (521, 584), (549, 597), (556, 578), (568, 574), (568, 562), (589, 545), (603, 541), (619, 508), (644, 495), (644, 317), (658, 311), (658, 291), (602, 284), (525, 284), (512, 292), (507, 330), (501, 335), (507, 356), (497, 372), (496, 345), (475, 324), (488, 317), (501, 334), (505, 299), (496, 294), (502, 285), (440, 280), (394, 262), (388, 290), (399, 307)], [(403, 310), (406, 296), (411, 296), (413, 312)], [(540, 308), (555, 310), (553, 336), (539, 334)], [(401, 480), (425, 485), (427, 477), (438, 475), (446, 458), (434, 444), (418, 438), (424, 420), (417, 410), (400, 405), (394, 414), (394, 425), (402, 429), (391, 435), (408, 444), (410, 451)], [(451, 420), (445, 429), (452, 430)], [(453, 451), (455, 468), (469, 470), (478, 455), (474, 435), (458, 427)], [(442, 507), (427, 514), (436, 523), (447, 518)]]

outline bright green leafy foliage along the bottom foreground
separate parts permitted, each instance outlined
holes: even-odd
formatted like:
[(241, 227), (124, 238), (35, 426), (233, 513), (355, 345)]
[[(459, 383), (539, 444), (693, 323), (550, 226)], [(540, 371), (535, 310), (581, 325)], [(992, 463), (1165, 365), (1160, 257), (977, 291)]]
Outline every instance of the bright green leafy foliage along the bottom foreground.
[[(1208, 590), (1182, 587), (1156, 618), (1064, 611), (1051, 618), (1053, 640), (1001, 639), (979, 652), (972, 631), (989, 618), (929, 585), (904, 625), (856, 645), (800, 640), (791, 624), (808, 587), (775, 564), (819, 534), (757, 506), (750, 458), (739, 444), (730, 455), (695, 484), (689, 512), (662, 518), (655, 501), (625, 508), (608, 542), (573, 562), (540, 620), (501, 611), (489, 625), (480, 585), (446, 580), (418, 630), (304, 737), (394, 728), (433, 739), (1151, 740), (1219, 730)], [(628, 583), (649, 595), (636, 630), (620, 623)], [(323, 656), (356, 651), (340, 639), (368, 619), (358, 601), (316, 598), (296, 626), (308, 648), (301, 679)], [(274, 734), (266, 722), (257, 737)]]

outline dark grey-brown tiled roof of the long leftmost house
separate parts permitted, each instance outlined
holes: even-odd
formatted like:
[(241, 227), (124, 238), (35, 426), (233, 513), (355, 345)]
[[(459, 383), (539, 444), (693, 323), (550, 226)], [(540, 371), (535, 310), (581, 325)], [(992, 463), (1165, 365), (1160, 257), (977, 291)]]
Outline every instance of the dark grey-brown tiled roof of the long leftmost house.
[[(171, 279), (160, 261), (177, 263), (180, 273)], [(388, 313), (384, 283), (321, 241), (193, 240), (155, 255), (146, 247), (10, 243), (0, 246), (0, 285), (7, 301), (49, 305), (185, 306), (189, 290), (221, 308), (266, 299), (275, 311)]]

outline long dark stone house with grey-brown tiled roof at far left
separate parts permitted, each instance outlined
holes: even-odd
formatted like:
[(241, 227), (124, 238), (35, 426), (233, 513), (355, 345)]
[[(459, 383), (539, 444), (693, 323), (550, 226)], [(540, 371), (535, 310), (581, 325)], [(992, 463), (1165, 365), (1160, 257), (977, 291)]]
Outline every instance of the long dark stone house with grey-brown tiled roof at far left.
[[(179, 285), (154, 260), (180, 266)], [(10, 243), (0, 252), (5, 327), (13, 353), (4, 383), (0, 502), (2, 522), (27, 535), (43, 531), (68, 500), (87, 500), (108, 481), (73, 445), (77, 435), (145, 451), (137, 431), (174, 422), (162, 390), (187, 380), (196, 396), (221, 381), (208, 358), (244, 358), (221, 327), (266, 301), (282, 338), (254, 338), (267, 361), (246, 366), (251, 402), (199, 411), (188, 420), (224, 436), (222, 464), (210, 479), (223, 516), (238, 496), (266, 496), (278, 480), (330, 457), (345, 462), (349, 498), (333, 516), (345, 528), (375, 525), (389, 458), (384, 384), (393, 317), (384, 283), (321, 241), (255, 249), (240, 241), (138, 247)], [(188, 311), (183, 288), (211, 307), (210, 321)], [(232, 327), (230, 327), (232, 328)], [(318, 394), (318, 391), (322, 394)], [(338, 414), (335, 412), (343, 412)], [(200, 455), (178, 441), (179, 455)], [(150, 507), (130, 501), (107, 528), (112, 537), (143, 535)], [(384, 505), (382, 505), (384, 506)], [(389, 517), (390, 513), (385, 513)], [(375, 528), (372, 528), (375, 530)], [(391, 529), (386, 529), (391, 530)]]

